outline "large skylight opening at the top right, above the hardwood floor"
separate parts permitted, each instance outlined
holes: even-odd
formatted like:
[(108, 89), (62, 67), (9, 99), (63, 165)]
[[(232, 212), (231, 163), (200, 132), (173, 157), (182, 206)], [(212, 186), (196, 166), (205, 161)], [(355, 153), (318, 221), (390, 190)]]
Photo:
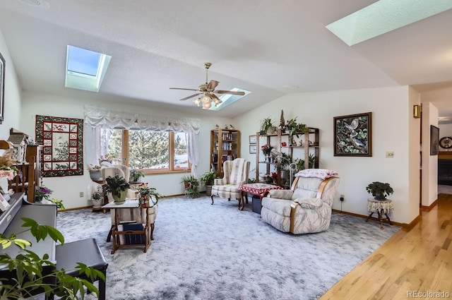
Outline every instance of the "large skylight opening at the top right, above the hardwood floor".
[(451, 8), (446, 0), (380, 0), (326, 28), (352, 46)]

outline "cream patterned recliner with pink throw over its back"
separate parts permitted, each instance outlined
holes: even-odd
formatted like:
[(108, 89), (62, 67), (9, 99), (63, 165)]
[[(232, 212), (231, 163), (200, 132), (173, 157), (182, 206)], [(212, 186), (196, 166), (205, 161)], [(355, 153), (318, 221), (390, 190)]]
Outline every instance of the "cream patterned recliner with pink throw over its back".
[(325, 231), (339, 180), (337, 173), (326, 169), (298, 172), (290, 190), (270, 190), (262, 199), (262, 220), (292, 234)]

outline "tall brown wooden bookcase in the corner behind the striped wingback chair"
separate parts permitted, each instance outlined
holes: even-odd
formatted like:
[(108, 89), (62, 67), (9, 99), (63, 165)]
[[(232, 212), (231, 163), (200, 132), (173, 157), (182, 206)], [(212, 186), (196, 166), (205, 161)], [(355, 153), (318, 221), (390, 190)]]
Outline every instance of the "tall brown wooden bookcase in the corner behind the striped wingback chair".
[(210, 131), (210, 169), (222, 174), (225, 160), (240, 157), (240, 131), (235, 129), (213, 129)]

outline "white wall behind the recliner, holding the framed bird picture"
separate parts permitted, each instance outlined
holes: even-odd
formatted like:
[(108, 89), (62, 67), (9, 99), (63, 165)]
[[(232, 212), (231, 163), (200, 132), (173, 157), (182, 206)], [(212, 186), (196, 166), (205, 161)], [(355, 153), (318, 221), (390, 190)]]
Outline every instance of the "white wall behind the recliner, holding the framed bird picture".
[[(419, 193), (414, 203), (410, 200), (413, 197), (410, 189), (416, 184), (419, 189), (418, 180), (410, 182), (414, 177), (410, 177), (412, 172), (419, 178), (419, 155), (410, 162), (408, 141), (414, 121), (408, 87), (290, 94), (238, 116), (234, 121), (242, 130), (242, 152), (251, 162), (251, 169), (255, 167), (256, 158), (248, 154), (248, 136), (256, 134), (259, 120), (266, 116), (279, 124), (281, 109), (286, 120), (297, 116), (298, 122), (320, 129), (320, 167), (340, 174), (333, 208), (341, 209), (339, 196), (343, 194), (342, 210), (367, 215), (367, 199), (371, 196), (365, 187), (371, 181), (383, 181), (391, 184), (395, 191), (391, 196), (395, 206), (393, 220), (409, 223), (417, 217), (418, 209), (408, 209), (415, 207), (416, 201), (419, 203)], [(335, 157), (333, 117), (365, 112), (372, 112), (373, 156)], [(386, 151), (393, 151), (394, 158), (386, 158)], [(414, 170), (410, 169), (413, 165)]]

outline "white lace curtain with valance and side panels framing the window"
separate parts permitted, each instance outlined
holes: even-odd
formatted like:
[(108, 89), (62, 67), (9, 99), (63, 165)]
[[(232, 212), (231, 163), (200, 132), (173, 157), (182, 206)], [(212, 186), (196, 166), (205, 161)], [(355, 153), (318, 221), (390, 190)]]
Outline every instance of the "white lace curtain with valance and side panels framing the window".
[(198, 133), (201, 129), (199, 119), (179, 118), (172, 116), (151, 116), (133, 112), (123, 112), (103, 107), (85, 106), (85, 157), (88, 164), (97, 164), (100, 157), (100, 128), (124, 128), (152, 131), (184, 132), (187, 136), (188, 156), (191, 163), (191, 174), (196, 176), (198, 166)]

